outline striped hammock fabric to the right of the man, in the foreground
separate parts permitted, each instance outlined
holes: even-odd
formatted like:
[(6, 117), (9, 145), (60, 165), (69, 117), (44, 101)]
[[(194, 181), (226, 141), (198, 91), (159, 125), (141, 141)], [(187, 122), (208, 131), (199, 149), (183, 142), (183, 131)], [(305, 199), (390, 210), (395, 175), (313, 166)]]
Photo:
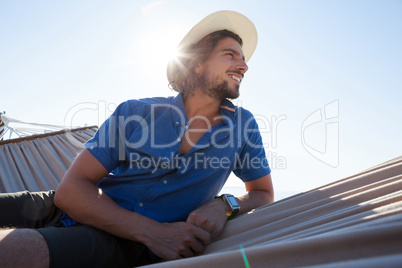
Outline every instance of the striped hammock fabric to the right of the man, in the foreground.
[(401, 265), (399, 157), (235, 218), (202, 256), (149, 267)]

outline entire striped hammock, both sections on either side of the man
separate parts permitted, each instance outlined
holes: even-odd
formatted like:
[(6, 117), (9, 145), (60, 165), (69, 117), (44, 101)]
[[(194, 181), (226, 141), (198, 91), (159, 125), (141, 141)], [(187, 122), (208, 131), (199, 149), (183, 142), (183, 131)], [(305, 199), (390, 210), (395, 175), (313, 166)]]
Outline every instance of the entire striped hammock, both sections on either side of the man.
[[(56, 189), (96, 127), (0, 142), (0, 192)], [(149, 267), (400, 267), (402, 157), (228, 222), (202, 256)]]

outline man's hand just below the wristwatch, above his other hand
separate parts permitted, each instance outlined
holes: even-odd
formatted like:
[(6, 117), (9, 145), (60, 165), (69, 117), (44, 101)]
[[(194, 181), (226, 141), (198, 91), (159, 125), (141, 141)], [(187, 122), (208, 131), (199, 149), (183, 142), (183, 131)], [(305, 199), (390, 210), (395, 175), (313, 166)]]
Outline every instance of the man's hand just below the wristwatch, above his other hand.
[(187, 222), (204, 229), (211, 235), (211, 239), (215, 240), (225, 227), (227, 211), (225, 202), (216, 198), (191, 212)]

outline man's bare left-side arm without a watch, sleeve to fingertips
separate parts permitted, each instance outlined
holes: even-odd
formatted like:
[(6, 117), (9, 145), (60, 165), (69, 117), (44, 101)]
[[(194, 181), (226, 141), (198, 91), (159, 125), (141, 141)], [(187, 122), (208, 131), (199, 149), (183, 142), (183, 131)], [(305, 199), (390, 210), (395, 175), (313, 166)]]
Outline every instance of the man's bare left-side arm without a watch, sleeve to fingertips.
[(145, 244), (163, 259), (194, 256), (209, 244), (209, 234), (188, 223), (158, 223), (117, 205), (96, 183), (107, 170), (84, 149), (64, 175), (55, 204), (74, 220)]

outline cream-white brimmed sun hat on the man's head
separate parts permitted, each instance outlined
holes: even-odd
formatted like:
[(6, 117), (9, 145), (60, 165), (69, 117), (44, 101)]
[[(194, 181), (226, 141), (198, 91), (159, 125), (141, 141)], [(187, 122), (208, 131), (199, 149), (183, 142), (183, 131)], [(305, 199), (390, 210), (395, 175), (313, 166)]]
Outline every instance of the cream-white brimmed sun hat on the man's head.
[[(257, 46), (257, 29), (251, 20), (235, 11), (222, 10), (208, 15), (184, 36), (177, 48), (180, 50), (180, 48), (195, 44), (208, 34), (220, 30), (228, 30), (240, 36), (243, 40), (242, 50), (247, 62), (253, 55)], [(167, 77), (169, 82), (174, 80), (172, 65), (173, 62), (169, 62), (167, 66)]]

